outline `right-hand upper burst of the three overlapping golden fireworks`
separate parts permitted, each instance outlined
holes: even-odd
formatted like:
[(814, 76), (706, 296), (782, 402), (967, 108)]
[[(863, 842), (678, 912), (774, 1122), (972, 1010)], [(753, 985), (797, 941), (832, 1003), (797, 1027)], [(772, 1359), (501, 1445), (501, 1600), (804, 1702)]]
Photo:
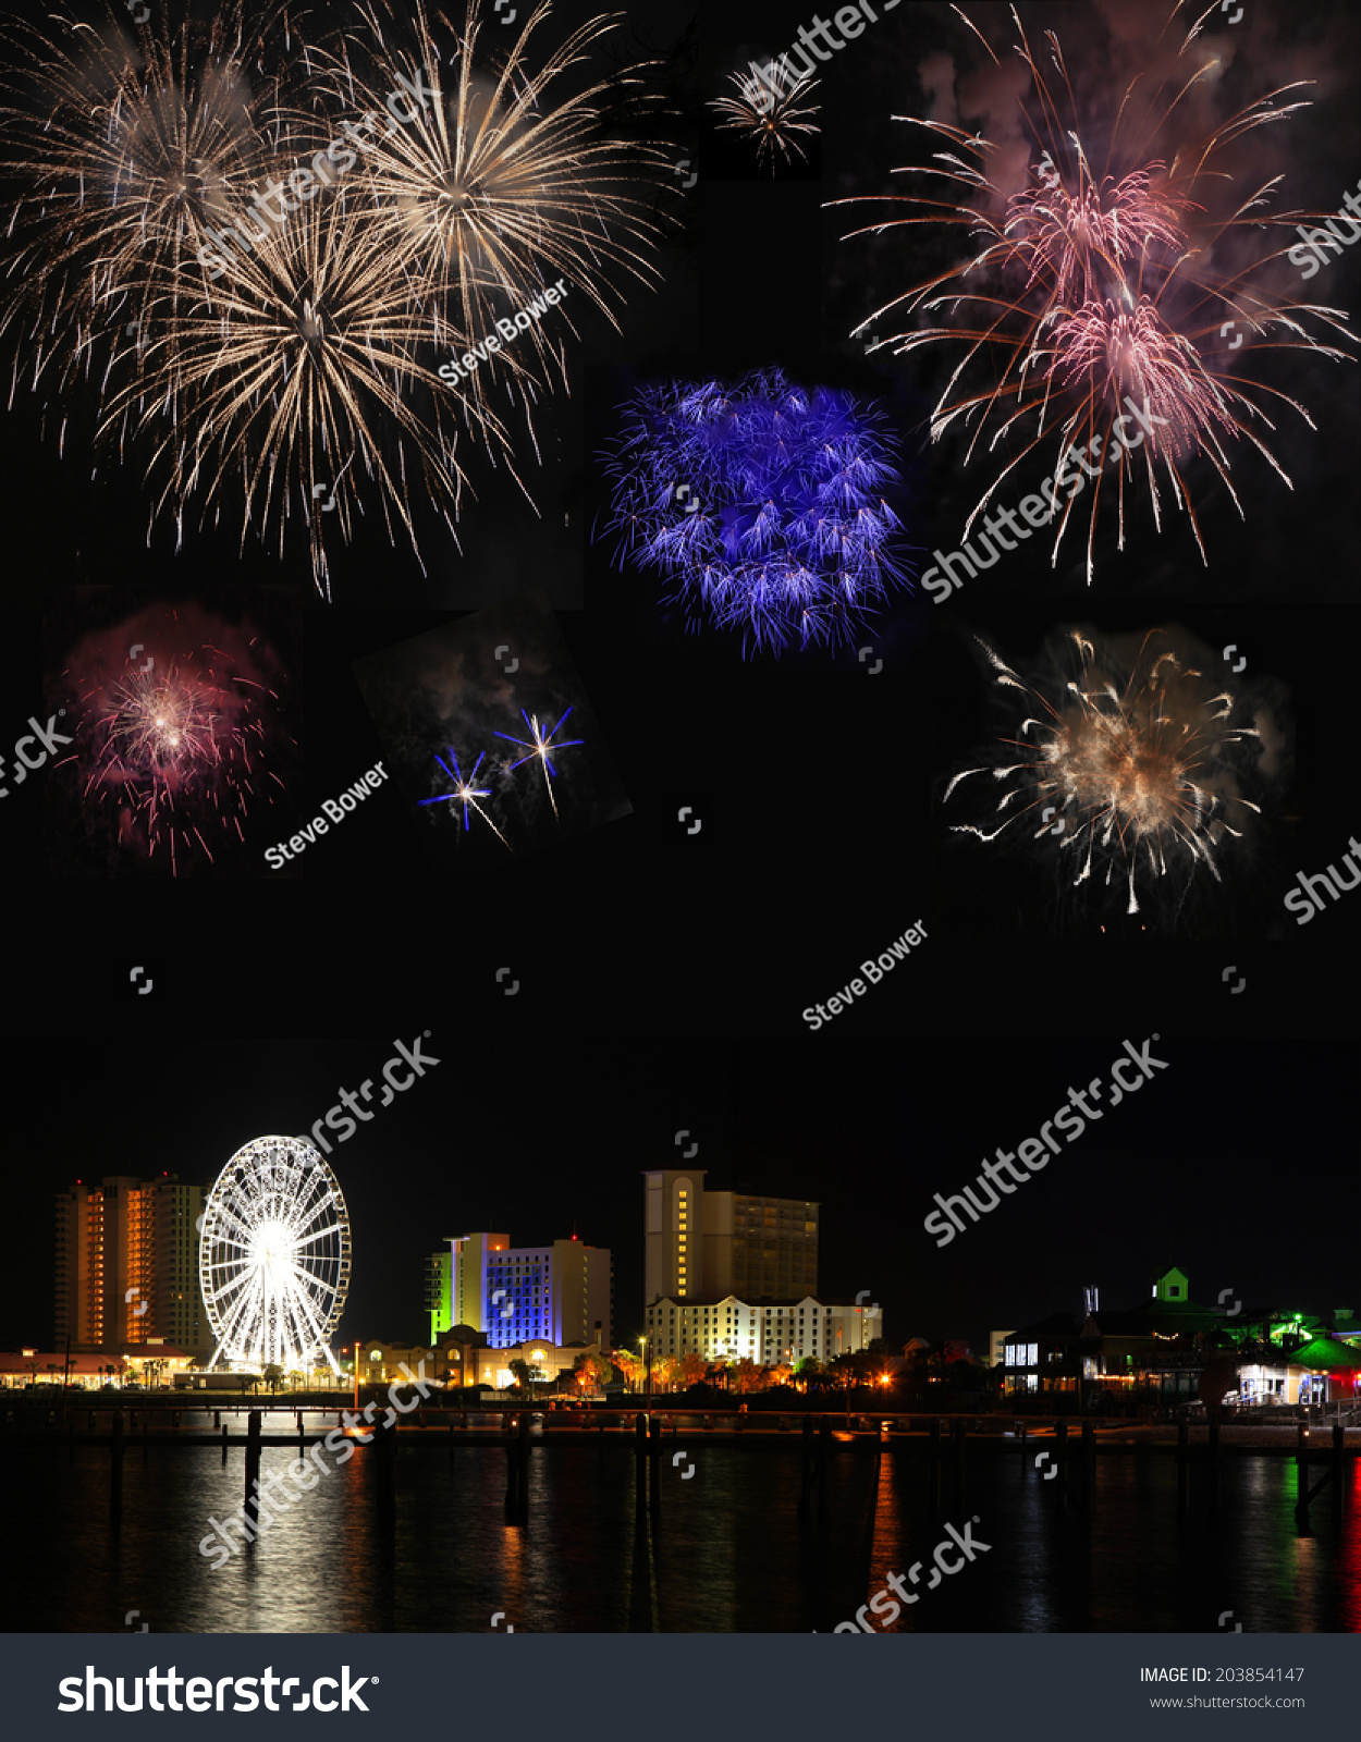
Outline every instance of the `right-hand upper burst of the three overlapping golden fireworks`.
[[(425, 0), (396, 16), (385, 5), (362, 5), (359, 24), (319, 56), (336, 103), (361, 111), (380, 111), (403, 82), (410, 89), (418, 75), (432, 77), (441, 44), (455, 68), (439, 101), (387, 129), (362, 164), (389, 268), (430, 310), (436, 343), (479, 343), (495, 333), (498, 315), (514, 315), (559, 277), (619, 327), (610, 268), (657, 282), (648, 256), (662, 228), (650, 216), (652, 197), (674, 179), (674, 153), (636, 136), (645, 127), (655, 132), (643, 68), (568, 94), (561, 87), (570, 85), (572, 68), (620, 16), (587, 21), (535, 66), (535, 38), (549, 14), (547, 0), (530, 10), (495, 75), (476, 70), (481, 0), (469, 0), (462, 30)], [(612, 122), (620, 105), (638, 111), (634, 136)], [(533, 387), (526, 357), (552, 364), (566, 383), (563, 327), (575, 333), (566, 312), (554, 331), (533, 322), (518, 348), (497, 357), (526, 406)], [(481, 376), (474, 392), (483, 392)]]

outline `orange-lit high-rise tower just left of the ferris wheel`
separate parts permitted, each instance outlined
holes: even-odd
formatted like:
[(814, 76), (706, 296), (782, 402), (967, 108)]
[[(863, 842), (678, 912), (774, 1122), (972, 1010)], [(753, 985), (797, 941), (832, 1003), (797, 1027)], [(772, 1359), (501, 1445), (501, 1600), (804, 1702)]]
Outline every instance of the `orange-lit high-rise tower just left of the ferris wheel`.
[(207, 1348), (199, 1293), (202, 1186), (178, 1174), (77, 1179), (56, 1198), (56, 1343), (127, 1352)]

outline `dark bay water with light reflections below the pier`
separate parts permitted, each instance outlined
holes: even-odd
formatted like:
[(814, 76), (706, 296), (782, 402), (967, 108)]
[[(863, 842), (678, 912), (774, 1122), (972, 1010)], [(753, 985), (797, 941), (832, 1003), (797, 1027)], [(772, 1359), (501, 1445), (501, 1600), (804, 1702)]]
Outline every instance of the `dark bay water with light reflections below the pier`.
[[(671, 1463), (683, 1449), (694, 1475)], [(267, 1448), (263, 1470), (296, 1451)], [(1028, 1460), (1026, 1460), (1028, 1463)], [(927, 1465), (899, 1448), (840, 1448), (824, 1519), (800, 1523), (795, 1435), (779, 1444), (667, 1435), (660, 1519), (636, 1526), (626, 1435), (537, 1448), (530, 1523), (507, 1523), (505, 1453), (401, 1446), (396, 1519), (375, 1505), (376, 1460), (333, 1469), (220, 1570), (199, 1552), (242, 1496), (242, 1451), (136, 1444), (124, 1517), (108, 1523), (108, 1451), (9, 1442), (7, 1631), (153, 1632), (819, 1632), (854, 1620), (890, 1571), (925, 1564), (920, 1601), (890, 1631), (1361, 1631), (1361, 1465), (1338, 1524), (1328, 1496), (1312, 1535), (1295, 1521), (1288, 1458), (1225, 1462), (1218, 1519), (1197, 1472), (1176, 1516), (1168, 1456), (1103, 1456), (1084, 1526), (1016, 1456), (971, 1455), (932, 1507)], [(988, 1543), (927, 1590), (946, 1524)], [(953, 1556), (951, 1556), (953, 1559)]]

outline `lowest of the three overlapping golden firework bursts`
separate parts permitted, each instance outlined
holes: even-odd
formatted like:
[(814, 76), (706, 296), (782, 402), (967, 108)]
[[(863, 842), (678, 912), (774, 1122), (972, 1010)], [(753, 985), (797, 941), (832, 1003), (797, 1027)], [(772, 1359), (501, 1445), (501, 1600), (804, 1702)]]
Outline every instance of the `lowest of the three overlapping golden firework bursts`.
[[(326, 598), (328, 510), (349, 542), (359, 502), (376, 500), (389, 537), (404, 533), (420, 561), (420, 479), (457, 542), (458, 430), (434, 371), (415, 361), (429, 327), (390, 267), (368, 213), (336, 193), (267, 226), (220, 284), (185, 298), (174, 345), (148, 350), (103, 422), (106, 437), (145, 439), (148, 474), (164, 477), (157, 510), (183, 528), (195, 498), (202, 517), (240, 502), (242, 549), (254, 530), (281, 556), (301, 516)], [(509, 451), (490, 409), (477, 429)]]

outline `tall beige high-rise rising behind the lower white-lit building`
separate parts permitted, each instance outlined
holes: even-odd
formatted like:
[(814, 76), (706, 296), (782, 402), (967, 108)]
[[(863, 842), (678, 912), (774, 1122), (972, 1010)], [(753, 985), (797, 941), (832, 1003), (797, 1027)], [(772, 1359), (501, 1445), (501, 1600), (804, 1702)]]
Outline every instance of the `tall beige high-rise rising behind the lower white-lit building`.
[(817, 1204), (706, 1192), (702, 1167), (643, 1172), (645, 1305), (817, 1293)]

